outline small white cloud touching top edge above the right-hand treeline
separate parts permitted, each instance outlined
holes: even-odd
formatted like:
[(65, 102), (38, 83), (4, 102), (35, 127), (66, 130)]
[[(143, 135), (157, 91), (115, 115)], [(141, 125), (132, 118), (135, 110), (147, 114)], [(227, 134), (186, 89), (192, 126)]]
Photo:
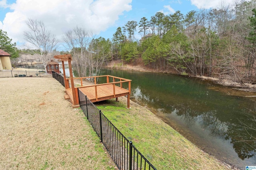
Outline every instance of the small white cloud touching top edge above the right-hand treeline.
[(220, 4), (233, 4), (234, 0), (190, 0), (191, 4), (198, 9), (218, 8)]

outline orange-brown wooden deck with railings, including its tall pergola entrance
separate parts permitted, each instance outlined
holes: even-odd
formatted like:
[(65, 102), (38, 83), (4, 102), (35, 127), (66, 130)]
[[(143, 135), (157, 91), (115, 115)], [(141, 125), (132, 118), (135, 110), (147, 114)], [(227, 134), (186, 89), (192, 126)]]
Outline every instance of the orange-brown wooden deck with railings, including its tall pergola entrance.
[[(108, 100), (111, 98), (116, 98), (118, 101), (118, 97), (127, 96), (127, 108), (130, 108), (130, 94), (131, 94), (131, 81), (125, 78), (120, 78), (116, 76), (104, 75), (104, 76), (90, 76), (90, 77), (80, 77), (74, 78), (72, 73), (72, 57), (70, 54), (68, 55), (56, 55), (55, 59), (60, 59), (62, 61), (64, 81), (66, 93), (68, 94), (70, 101), (73, 107), (79, 107), (79, 98), (78, 98), (78, 89), (80, 92), (85, 94), (87, 98), (91, 102), (99, 102), (102, 100)], [(70, 72), (70, 78), (66, 78), (64, 61), (68, 61), (68, 67)], [(106, 78), (106, 83), (96, 84), (96, 78), (102, 77)], [(88, 80), (90, 78), (94, 78), (94, 84), (89, 86), (83, 86), (82, 80)], [(74, 79), (80, 79), (80, 87), (74, 86)], [(71, 83), (71, 88), (70, 88)], [(123, 88), (123, 84), (128, 83), (128, 89)]]

